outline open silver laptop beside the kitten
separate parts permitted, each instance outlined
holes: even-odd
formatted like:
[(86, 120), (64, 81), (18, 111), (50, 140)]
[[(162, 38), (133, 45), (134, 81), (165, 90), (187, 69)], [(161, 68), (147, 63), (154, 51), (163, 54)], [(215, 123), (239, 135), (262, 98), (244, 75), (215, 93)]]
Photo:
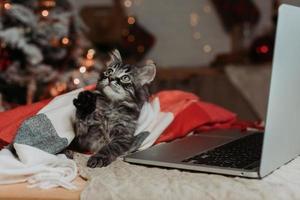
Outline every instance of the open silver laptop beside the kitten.
[(280, 6), (264, 133), (193, 134), (127, 155), (124, 161), (262, 178), (296, 158), (300, 154), (299, 21), (300, 8)]

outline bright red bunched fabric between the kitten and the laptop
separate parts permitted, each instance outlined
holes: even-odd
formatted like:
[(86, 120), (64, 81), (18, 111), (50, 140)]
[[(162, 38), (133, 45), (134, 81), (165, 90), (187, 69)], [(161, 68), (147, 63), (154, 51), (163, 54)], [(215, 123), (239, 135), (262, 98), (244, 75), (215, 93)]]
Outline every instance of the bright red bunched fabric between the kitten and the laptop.
[(158, 97), (163, 112), (172, 112), (174, 120), (155, 143), (167, 142), (184, 137), (193, 130), (213, 130), (232, 128), (237, 121), (236, 114), (201, 101), (192, 93), (183, 91), (163, 91)]

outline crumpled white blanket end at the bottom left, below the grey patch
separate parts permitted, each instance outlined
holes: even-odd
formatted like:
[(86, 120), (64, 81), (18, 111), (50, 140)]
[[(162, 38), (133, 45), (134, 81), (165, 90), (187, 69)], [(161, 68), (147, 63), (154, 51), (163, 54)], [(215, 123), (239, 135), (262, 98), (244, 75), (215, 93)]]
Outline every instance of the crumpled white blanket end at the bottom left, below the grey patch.
[(19, 159), (7, 149), (0, 151), (0, 184), (28, 182), (31, 187), (48, 189), (62, 186), (76, 189), (71, 183), (77, 176), (73, 160), (52, 155), (24, 144), (14, 144)]

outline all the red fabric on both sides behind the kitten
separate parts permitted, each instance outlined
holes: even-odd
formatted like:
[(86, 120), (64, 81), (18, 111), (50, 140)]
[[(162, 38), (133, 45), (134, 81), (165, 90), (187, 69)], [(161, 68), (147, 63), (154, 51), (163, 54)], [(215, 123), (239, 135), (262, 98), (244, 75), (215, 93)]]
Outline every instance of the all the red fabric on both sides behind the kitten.
[[(95, 85), (84, 89), (93, 90)], [(159, 98), (161, 111), (174, 114), (173, 122), (157, 139), (156, 143), (184, 137), (191, 131), (232, 128), (245, 130), (249, 127), (262, 129), (260, 124), (238, 121), (235, 113), (217, 105), (203, 102), (192, 93), (178, 90), (162, 91), (152, 98), (154, 97)], [(51, 99), (48, 99), (0, 113), (0, 149), (1, 146), (12, 142), (17, 129), (25, 119), (34, 116), (50, 101)]]

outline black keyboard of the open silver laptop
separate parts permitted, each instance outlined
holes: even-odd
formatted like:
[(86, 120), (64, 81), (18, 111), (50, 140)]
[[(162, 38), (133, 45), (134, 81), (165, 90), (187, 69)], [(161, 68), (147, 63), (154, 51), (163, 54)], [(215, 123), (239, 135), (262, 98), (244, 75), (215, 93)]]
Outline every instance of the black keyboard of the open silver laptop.
[(263, 134), (254, 133), (185, 159), (183, 162), (238, 169), (253, 169), (258, 167), (262, 142)]

